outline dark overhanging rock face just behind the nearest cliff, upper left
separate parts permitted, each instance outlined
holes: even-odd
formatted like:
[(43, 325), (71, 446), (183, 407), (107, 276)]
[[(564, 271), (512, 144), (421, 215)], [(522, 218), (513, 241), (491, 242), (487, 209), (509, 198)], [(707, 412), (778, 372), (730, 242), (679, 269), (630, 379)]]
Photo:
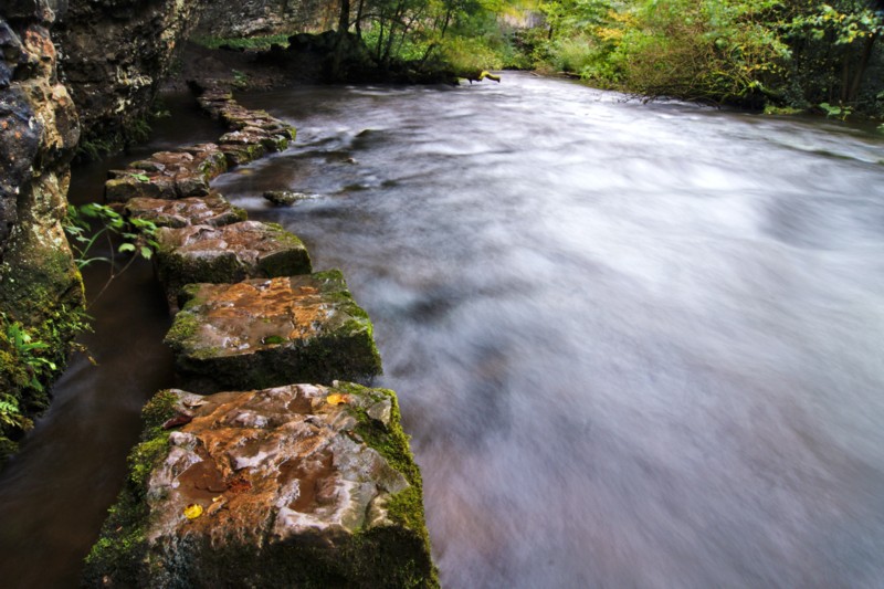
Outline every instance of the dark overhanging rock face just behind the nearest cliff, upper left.
[(64, 82), (80, 112), (86, 141), (110, 149), (131, 136), (203, 2), (70, 3), (57, 32), (64, 50)]

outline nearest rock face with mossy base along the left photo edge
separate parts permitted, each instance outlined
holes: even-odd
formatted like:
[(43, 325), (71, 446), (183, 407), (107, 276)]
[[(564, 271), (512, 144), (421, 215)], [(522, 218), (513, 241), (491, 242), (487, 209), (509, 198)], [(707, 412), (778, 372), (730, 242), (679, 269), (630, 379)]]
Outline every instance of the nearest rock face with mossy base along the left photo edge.
[[(51, 346), (57, 367), (73, 336), (72, 313), (83, 304), (62, 228), (80, 125), (49, 31), (65, 4), (0, 2), (0, 399), (21, 409), (21, 427), (45, 409), (51, 371), (34, 385), (38, 375), (7, 339), (7, 326)], [(20, 429), (0, 420), (0, 462)]]

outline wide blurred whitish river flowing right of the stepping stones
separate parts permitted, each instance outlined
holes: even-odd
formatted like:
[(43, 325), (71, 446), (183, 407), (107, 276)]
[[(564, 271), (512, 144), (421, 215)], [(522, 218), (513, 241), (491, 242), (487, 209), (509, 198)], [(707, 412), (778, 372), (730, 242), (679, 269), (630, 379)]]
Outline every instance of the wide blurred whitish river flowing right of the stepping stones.
[(242, 102), (298, 141), (217, 187), (371, 315), (443, 586), (884, 587), (884, 137), (508, 73)]

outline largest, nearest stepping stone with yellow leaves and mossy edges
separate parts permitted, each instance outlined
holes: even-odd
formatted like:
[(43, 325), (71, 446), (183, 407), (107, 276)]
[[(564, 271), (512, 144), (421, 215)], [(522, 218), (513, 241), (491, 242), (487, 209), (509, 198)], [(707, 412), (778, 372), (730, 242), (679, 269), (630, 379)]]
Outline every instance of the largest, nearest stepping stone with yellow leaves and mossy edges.
[(392, 391), (164, 391), (145, 416), (85, 585), (438, 587)]

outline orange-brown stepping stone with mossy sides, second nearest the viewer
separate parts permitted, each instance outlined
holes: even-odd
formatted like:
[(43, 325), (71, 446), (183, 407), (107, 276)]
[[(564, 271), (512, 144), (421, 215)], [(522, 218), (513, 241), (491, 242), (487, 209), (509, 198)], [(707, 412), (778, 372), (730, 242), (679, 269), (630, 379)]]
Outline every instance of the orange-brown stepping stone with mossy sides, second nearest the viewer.
[(337, 270), (306, 276), (191, 284), (166, 336), (179, 375), (200, 392), (381, 372), (371, 320)]

